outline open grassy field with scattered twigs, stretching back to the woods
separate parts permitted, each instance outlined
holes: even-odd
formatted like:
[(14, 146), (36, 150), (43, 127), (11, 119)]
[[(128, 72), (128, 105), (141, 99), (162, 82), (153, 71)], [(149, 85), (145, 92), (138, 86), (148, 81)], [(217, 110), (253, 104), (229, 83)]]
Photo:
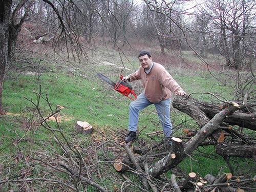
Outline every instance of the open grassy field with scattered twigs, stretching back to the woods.
[[(8, 71), (3, 91), (6, 114), (0, 118), (0, 172), (1, 180), (14, 182), (0, 183), (1, 191), (98, 191), (90, 181), (109, 191), (120, 191), (123, 177), (115, 172), (113, 162), (125, 153), (119, 143), (127, 133), (131, 100), (115, 92), (96, 74), (102, 73), (117, 81), (121, 73), (134, 72), (139, 66), (134, 52), (127, 50), (127, 59), (120, 59), (118, 51), (99, 48), (89, 60), (46, 59), (35, 61), (40, 63), (38, 66), (17, 62), (15, 68)], [(156, 53), (153, 59), (163, 63), (187, 94), (205, 102), (219, 102), (207, 92), (233, 99), (232, 90), (216, 77), (230, 84), (232, 80), (224, 79), (223, 74), (214, 70), (211, 71), (214, 75), (210, 75), (194, 53), (184, 52), (185, 62), (172, 53), (164, 57)], [(210, 56), (209, 63), (212, 63)], [(232, 71), (226, 73), (232, 74)], [(143, 91), (140, 82), (132, 86), (137, 95)], [(193, 119), (174, 108), (171, 118), (176, 136), (184, 135), (181, 123), (197, 129)], [(77, 121), (90, 123), (93, 133), (77, 134), (74, 130)], [(161, 141), (162, 134), (150, 135), (161, 131), (153, 105), (141, 111), (138, 129), (140, 136), (133, 145), (151, 146)], [(193, 156), (179, 164), (178, 172), (195, 172), (202, 177), (228, 173), (226, 162), (215, 150), (199, 147)], [(76, 159), (77, 164), (70, 164), (73, 162), (70, 159)], [(69, 174), (59, 162), (70, 167), (86, 165), (82, 167), (82, 174), (89, 181), (73, 178), (70, 183)], [(255, 171), (252, 159), (231, 158), (230, 162), (239, 165), (235, 170), (237, 176)], [(169, 171), (163, 177), (170, 178), (170, 175)], [(138, 182), (133, 172), (126, 176)], [(140, 190), (128, 187), (126, 191)]]

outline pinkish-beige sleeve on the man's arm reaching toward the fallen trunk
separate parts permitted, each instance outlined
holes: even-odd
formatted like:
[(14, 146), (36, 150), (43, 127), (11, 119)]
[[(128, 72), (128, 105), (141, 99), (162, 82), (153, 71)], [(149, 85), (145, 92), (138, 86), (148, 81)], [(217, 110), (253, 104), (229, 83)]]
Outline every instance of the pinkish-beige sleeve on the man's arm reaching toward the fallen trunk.
[(176, 80), (166, 70), (161, 75), (161, 83), (164, 87), (177, 94), (178, 91), (182, 90)]

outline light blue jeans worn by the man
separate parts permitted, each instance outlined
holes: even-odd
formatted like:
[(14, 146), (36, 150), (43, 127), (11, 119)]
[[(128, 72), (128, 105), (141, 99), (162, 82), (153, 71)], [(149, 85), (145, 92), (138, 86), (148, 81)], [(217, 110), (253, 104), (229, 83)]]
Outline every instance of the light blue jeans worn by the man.
[(170, 121), (170, 99), (162, 100), (159, 103), (152, 103), (145, 97), (144, 93), (140, 94), (137, 99), (130, 103), (130, 116), (128, 130), (136, 132), (139, 120), (139, 111), (146, 106), (154, 104), (158, 117), (163, 127), (164, 137), (172, 135), (172, 122)]

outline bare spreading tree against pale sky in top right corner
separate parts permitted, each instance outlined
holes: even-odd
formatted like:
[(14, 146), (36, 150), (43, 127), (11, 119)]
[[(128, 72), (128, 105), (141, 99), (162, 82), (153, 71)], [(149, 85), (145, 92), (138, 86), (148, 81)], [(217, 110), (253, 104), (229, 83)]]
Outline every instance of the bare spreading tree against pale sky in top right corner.
[(255, 28), (255, 1), (210, 0), (205, 6), (207, 9), (203, 8), (202, 14), (205, 14), (206, 10), (211, 18), (209, 32), (216, 47), (225, 57), (226, 66), (234, 69), (248, 66), (250, 61), (246, 52), (248, 40), (253, 35), (251, 29)]

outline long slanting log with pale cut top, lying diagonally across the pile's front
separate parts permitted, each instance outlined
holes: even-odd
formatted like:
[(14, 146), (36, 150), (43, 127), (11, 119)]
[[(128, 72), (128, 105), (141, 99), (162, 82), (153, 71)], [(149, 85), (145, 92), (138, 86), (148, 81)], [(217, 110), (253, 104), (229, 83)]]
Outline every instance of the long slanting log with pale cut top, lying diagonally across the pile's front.
[(150, 167), (149, 173), (153, 177), (159, 177), (161, 174), (166, 173), (169, 169), (177, 166), (183, 159), (190, 155), (200, 143), (202, 143), (207, 137), (209, 137), (214, 131), (216, 131), (227, 115), (231, 115), (240, 107), (237, 104), (230, 104), (228, 108), (224, 109), (220, 113), (216, 114), (203, 128), (192, 137), (184, 146), (183, 151), (175, 159), (172, 158), (172, 152), (166, 157), (159, 160)]

